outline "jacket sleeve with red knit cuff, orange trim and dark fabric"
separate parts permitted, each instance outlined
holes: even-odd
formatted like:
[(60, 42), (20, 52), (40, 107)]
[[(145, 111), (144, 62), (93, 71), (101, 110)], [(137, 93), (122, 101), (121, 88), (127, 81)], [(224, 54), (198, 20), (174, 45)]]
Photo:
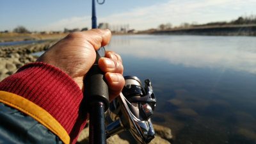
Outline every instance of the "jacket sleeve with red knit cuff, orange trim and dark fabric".
[[(29, 63), (0, 82), (0, 102), (5, 105), (0, 109), (3, 116), (0, 138), (8, 140), (11, 137), (4, 135), (8, 134), (12, 138), (24, 138), (22, 140), (26, 136), (32, 141), (36, 138), (39, 140), (43, 136), (40, 131), (48, 129), (53, 134), (51, 138), (55, 142), (52, 143), (59, 143), (59, 140), (63, 143), (76, 143), (79, 132), (86, 124), (86, 112), (80, 108), (82, 99), (83, 93), (79, 86), (65, 72), (45, 63)], [(9, 107), (17, 109), (20, 115), (26, 115), (24, 117), (27, 118), (7, 116), (4, 111)], [(10, 123), (9, 120), (15, 121)], [(31, 129), (28, 126), (31, 120), (38, 122), (40, 129), (30, 132), (31, 137), (28, 134), (25, 136), (29, 132), (26, 132), (26, 128)], [(45, 129), (42, 129), (42, 125)]]

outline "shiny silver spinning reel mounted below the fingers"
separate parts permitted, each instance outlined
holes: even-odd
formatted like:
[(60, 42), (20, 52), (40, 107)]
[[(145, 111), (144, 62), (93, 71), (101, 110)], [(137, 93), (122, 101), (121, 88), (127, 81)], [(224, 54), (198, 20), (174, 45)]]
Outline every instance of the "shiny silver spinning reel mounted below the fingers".
[(156, 107), (156, 97), (149, 79), (145, 87), (135, 76), (125, 76), (125, 86), (109, 106), (109, 115), (113, 120), (107, 127), (107, 138), (124, 130), (129, 130), (138, 143), (149, 143), (155, 138), (150, 120)]

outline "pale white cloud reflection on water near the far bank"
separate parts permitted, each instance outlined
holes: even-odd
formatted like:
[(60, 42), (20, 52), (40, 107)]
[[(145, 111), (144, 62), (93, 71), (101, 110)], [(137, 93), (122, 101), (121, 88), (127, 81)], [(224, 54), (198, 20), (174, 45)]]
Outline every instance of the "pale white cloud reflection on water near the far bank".
[[(256, 74), (256, 40), (239, 36), (113, 36), (111, 49), (186, 67)], [(122, 47), (122, 49), (120, 49)]]

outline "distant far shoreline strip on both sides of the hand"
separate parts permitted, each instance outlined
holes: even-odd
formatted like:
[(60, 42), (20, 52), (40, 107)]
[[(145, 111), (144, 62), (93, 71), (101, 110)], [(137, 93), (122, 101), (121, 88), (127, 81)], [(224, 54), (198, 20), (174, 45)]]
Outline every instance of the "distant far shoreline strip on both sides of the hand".
[[(190, 28), (149, 29), (137, 33), (112, 33), (112, 35), (203, 35), (203, 36), (256, 36), (256, 24), (194, 26)], [(68, 33), (0, 33), (0, 43), (28, 40), (60, 40)]]

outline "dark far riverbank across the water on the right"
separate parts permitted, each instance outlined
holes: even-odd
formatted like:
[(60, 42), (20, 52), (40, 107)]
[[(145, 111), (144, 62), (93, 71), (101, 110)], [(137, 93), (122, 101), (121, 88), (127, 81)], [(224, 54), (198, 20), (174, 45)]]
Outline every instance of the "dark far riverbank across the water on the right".
[(256, 36), (256, 24), (179, 28), (161, 31), (145, 31), (145, 33), (153, 35)]

